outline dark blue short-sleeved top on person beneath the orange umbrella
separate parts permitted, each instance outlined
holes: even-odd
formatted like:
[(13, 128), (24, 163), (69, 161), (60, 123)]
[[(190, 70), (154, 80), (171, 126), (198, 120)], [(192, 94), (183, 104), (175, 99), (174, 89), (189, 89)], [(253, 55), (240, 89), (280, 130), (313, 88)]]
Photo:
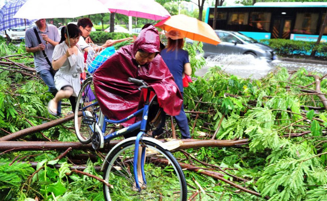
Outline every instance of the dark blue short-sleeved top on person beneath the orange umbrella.
[(160, 55), (168, 66), (169, 70), (173, 74), (175, 83), (183, 92), (183, 73), (184, 73), (184, 64), (189, 62), (189, 53), (183, 49), (178, 49), (174, 51), (167, 51), (163, 49), (160, 52)]

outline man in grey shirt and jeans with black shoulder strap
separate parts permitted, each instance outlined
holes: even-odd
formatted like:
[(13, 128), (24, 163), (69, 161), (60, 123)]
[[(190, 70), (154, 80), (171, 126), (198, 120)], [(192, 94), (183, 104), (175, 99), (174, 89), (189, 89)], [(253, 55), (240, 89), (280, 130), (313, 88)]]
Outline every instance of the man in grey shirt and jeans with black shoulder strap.
[[(36, 27), (31, 27), (25, 32), (25, 48), (27, 52), (33, 53), (36, 72), (49, 87), (53, 96), (57, 93), (54, 85), (54, 74), (51, 62), (54, 46), (59, 44), (60, 35), (57, 27), (46, 24), (45, 19), (35, 22)], [(58, 116), (61, 115), (61, 102), (58, 103)]]

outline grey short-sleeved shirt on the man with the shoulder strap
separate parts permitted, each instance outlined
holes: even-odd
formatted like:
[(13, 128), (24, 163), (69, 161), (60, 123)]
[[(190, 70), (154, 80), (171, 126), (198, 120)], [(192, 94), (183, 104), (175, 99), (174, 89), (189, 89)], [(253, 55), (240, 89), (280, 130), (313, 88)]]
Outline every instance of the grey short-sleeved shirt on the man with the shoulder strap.
[[(52, 46), (50, 43), (45, 44), (45, 41), (41, 37), (42, 33), (40, 32), (39, 28), (36, 27), (36, 30), (37, 33), (39, 34), (41, 43), (43, 43), (43, 45), (45, 46), (44, 49), (45, 54), (47, 55), (49, 61), (52, 62), (52, 54), (53, 54), (54, 46)], [(47, 24), (45, 28), (45, 32), (43, 32), (43, 34), (48, 35), (48, 38), (50, 38), (55, 42), (60, 41), (60, 35), (58, 29), (54, 25)], [(31, 27), (27, 29), (25, 32), (25, 47), (31, 48), (37, 46), (39, 46), (39, 42), (36, 38), (33, 27)], [(33, 55), (34, 55), (34, 65), (37, 72), (40, 72), (41, 70), (45, 70), (45, 69), (50, 69), (50, 65), (48, 64), (45, 57), (43, 56), (42, 51), (34, 52)]]

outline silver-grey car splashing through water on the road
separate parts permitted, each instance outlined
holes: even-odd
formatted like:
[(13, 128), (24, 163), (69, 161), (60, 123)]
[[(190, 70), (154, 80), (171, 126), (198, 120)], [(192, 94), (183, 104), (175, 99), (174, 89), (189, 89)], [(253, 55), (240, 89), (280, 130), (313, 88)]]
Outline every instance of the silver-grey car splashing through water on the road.
[[(216, 56), (218, 54), (249, 54), (256, 58), (266, 59), (268, 62), (277, 59), (273, 48), (259, 43), (239, 32), (215, 30), (221, 40), (218, 45), (203, 43), (204, 57)], [(192, 43), (192, 41), (187, 40)]]

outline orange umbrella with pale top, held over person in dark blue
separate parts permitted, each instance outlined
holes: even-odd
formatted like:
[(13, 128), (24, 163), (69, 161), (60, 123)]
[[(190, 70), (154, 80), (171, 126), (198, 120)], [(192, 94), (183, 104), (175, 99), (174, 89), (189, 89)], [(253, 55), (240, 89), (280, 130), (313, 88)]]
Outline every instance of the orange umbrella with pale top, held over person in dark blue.
[(220, 43), (217, 34), (208, 24), (186, 15), (171, 16), (154, 26), (165, 31), (178, 30), (184, 37), (194, 41), (201, 41), (213, 45)]

